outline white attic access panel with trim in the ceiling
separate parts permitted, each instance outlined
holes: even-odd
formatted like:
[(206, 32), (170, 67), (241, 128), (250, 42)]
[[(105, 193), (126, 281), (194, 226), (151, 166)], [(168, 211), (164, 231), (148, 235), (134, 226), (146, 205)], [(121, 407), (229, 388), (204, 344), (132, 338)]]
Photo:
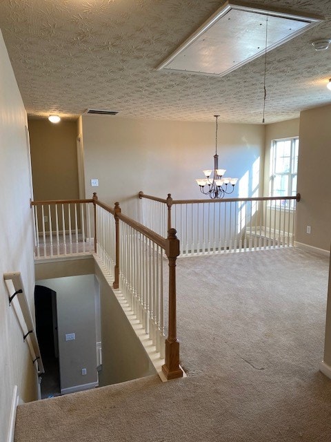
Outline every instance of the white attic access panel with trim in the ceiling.
[(157, 70), (223, 76), (281, 46), (321, 19), (227, 2), (184, 41)]

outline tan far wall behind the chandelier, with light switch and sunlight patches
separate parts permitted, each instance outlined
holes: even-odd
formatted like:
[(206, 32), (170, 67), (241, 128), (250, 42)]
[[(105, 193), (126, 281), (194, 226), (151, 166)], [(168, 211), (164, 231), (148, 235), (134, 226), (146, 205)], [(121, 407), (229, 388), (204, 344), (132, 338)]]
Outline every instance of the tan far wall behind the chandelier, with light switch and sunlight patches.
[[(133, 198), (140, 190), (163, 198), (168, 193), (176, 199), (205, 198), (195, 179), (213, 166), (214, 122), (86, 115), (82, 124), (87, 196), (97, 191), (108, 204), (121, 202), (129, 215), (137, 209)], [(257, 181), (262, 176), (264, 136), (262, 125), (219, 124), (219, 167), (248, 183), (241, 183), (243, 196), (247, 189), (250, 195), (256, 191), (253, 175), (259, 175)], [(99, 179), (99, 187), (90, 185), (92, 178)]]

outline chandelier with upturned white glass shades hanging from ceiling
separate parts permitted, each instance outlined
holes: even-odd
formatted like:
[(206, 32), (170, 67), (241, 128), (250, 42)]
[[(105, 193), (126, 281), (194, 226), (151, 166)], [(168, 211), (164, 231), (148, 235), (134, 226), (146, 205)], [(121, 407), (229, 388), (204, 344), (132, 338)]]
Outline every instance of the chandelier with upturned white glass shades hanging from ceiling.
[[(216, 152), (214, 155), (214, 169), (203, 171), (205, 178), (196, 180), (199, 184), (200, 191), (203, 195), (209, 195), (210, 198), (224, 198), (234, 191), (234, 186), (237, 184), (238, 178), (223, 177), (226, 172), (225, 169), (219, 169), (219, 155), (217, 155), (217, 131), (219, 128), (217, 119), (219, 115), (214, 115), (216, 118)], [(208, 186), (208, 187), (207, 187)]]

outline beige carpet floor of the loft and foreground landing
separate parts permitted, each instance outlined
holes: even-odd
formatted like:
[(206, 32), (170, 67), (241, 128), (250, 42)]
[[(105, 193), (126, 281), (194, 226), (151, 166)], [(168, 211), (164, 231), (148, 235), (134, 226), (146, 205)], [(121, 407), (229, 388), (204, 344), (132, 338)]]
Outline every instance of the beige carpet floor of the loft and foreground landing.
[(182, 258), (177, 285), (188, 378), (20, 405), (14, 441), (331, 441), (331, 381), (319, 372), (328, 258)]

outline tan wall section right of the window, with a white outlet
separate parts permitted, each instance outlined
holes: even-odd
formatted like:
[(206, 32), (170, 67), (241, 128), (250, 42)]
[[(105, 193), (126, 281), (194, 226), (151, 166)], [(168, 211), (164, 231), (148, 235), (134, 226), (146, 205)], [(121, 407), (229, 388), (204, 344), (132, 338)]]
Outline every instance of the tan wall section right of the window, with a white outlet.
[[(331, 106), (300, 115), (297, 241), (330, 251), (331, 240)], [(311, 234), (306, 227), (311, 226)]]

